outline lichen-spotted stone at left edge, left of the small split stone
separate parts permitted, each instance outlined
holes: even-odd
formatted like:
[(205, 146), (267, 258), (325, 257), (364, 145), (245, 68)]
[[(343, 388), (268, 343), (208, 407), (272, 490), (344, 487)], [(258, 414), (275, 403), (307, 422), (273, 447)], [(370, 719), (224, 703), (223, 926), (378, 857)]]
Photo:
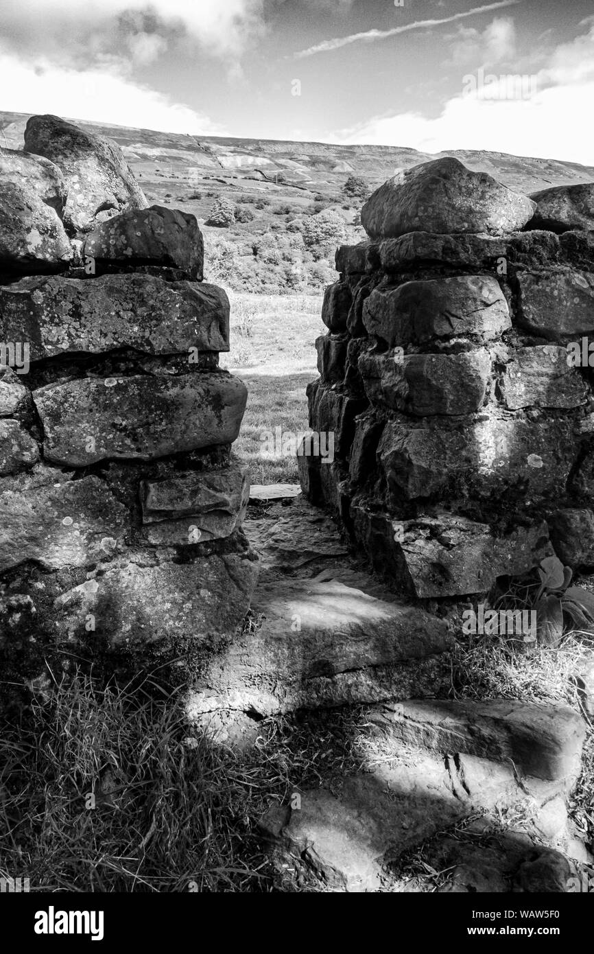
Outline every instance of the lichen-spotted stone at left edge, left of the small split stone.
[(111, 559), (126, 508), (97, 477), (0, 492), (0, 572), (34, 560), (48, 570)]

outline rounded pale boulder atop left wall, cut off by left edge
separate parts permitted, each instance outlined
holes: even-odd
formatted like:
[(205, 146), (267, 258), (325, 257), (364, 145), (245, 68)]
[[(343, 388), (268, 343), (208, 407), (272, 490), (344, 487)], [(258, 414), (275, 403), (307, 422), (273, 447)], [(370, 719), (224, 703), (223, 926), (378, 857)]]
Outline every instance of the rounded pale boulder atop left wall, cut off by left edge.
[(0, 149), (0, 274), (67, 267), (65, 198), (64, 176), (48, 159)]

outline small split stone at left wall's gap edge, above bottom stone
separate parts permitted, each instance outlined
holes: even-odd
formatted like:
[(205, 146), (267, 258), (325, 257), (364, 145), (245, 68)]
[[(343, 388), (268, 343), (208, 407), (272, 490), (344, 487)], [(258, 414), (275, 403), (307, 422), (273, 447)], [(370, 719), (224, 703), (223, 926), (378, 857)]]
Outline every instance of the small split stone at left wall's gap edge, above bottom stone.
[(183, 546), (230, 536), (241, 526), (249, 497), (247, 467), (143, 481), (140, 502), (149, 542)]

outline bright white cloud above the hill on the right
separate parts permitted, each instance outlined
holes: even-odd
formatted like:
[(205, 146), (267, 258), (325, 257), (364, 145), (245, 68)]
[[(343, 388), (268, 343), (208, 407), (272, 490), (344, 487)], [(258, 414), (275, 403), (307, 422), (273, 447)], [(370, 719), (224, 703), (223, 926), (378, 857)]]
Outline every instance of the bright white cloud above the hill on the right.
[(330, 141), (412, 146), (421, 152), (484, 149), (516, 156), (541, 156), (594, 165), (588, 116), (594, 102), (594, 23), (587, 34), (559, 46), (549, 65), (534, 74), (535, 92), (504, 96), (505, 82), (488, 96), (481, 89), (449, 99), (440, 114), (374, 116)]

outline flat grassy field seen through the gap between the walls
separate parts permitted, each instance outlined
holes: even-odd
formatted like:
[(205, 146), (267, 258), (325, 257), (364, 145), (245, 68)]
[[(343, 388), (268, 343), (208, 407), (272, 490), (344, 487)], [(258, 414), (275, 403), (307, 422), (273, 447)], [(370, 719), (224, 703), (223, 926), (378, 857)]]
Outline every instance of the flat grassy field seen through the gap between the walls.
[(245, 382), (248, 406), (234, 445), (249, 464), (252, 483), (297, 483), (292, 453), (269, 456), (262, 434), (307, 430), (305, 386), (317, 377), (314, 342), (327, 331), (321, 321), (321, 296), (229, 293), (231, 351), (222, 367)]

